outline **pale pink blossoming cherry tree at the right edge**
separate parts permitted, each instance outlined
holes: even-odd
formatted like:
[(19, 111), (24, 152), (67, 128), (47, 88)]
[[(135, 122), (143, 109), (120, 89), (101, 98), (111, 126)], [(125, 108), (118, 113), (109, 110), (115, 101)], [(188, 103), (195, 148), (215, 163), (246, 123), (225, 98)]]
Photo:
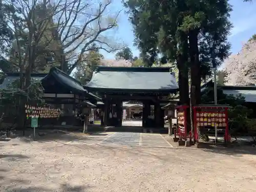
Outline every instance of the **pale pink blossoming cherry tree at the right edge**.
[(224, 62), (227, 75), (225, 84), (228, 86), (249, 86), (256, 84), (256, 40), (250, 38), (241, 51), (231, 55)]

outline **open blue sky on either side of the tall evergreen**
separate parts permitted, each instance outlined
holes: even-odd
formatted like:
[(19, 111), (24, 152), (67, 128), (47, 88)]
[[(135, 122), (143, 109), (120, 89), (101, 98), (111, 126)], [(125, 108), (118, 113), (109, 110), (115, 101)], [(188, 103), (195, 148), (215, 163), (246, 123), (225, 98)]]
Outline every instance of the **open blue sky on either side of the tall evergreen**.
[[(233, 6), (230, 20), (233, 24), (231, 35), (228, 40), (231, 42), (232, 53), (238, 53), (242, 48), (243, 42), (246, 42), (254, 33), (256, 33), (256, 1), (244, 3), (243, 0), (230, 0)], [(121, 1), (114, 1), (114, 9), (122, 10), (118, 17), (118, 29), (115, 32), (115, 39), (119, 39), (132, 49), (133, 55), (138, 56), (139, 51), (133, 45), (134, 34), (132, 25), (129, 22), (128, 15), (122, 6)], [(102, 52), (105, 58), (115, 58), (115, 53)]]

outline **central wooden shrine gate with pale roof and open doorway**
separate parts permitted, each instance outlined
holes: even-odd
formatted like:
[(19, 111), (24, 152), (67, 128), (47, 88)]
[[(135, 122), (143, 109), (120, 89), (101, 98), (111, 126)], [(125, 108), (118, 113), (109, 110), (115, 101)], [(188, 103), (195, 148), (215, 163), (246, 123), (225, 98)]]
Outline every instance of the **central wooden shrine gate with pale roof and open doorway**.
[(102, 98), (105, 126), (121, 126), (123, 102), (136, 100), (142, 103), (143, 127), (164, 127), (161, 106), (178, 84), (170, 68), (98, 67), (84, 89)]

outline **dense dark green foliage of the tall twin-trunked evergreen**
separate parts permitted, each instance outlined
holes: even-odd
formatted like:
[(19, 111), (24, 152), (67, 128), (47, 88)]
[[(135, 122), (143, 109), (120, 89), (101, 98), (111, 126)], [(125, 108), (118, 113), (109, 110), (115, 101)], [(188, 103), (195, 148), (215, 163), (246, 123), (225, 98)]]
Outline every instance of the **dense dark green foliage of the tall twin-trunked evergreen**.
[[(136, 36), (135, 45), (140, 48), (145, 62), (150, 65), (159, 52), (171, 62), (177, 60), (178, 54), (188, 54), (181, 45), (181, 34), (188, 34), (192, 30), (200, 33), (198, 45), (203, 78), (210, 76), (212, 67), (219, 66), (229, 54), (227, 36), (231, 28), (231, 8), (226, 0), (127, 0), (124, 1), (124, 6), (129, 8)], [(178, 44), (180, 45), (177, 46)]]

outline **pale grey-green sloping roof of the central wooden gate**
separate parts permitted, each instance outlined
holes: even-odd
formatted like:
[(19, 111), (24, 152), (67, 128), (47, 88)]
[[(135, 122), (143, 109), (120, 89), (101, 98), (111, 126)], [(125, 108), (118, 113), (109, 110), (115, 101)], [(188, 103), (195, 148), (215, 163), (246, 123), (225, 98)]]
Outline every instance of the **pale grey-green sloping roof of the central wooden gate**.
[(98, 67), (87, 89), (176, 91), (176, 78), (169, 68)]

